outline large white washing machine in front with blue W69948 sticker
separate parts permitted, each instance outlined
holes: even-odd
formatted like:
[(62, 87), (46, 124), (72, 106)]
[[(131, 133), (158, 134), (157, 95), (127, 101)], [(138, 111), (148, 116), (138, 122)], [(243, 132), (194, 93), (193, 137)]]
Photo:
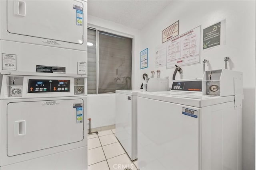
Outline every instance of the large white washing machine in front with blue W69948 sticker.
[(226, 72), (206, 72), (203, 88), (175, 80), (171, 92), (138, 93), (140, 170), (241, 170), (242, 74)]

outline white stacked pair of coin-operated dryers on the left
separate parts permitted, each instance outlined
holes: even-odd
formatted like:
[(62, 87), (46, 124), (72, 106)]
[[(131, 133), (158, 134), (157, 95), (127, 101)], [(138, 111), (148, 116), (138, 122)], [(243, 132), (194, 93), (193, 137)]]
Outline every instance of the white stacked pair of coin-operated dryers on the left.
[(0, 1), (0, 170), (87, 169), (87, 2)]

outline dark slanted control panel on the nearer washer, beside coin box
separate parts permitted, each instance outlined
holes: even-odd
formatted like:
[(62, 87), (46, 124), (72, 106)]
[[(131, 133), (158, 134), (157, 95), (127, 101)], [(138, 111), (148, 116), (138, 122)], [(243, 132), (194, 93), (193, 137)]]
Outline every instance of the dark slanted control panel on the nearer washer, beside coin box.
[(172, 89), (178, 91), (202, 92), (202, 81), (179, 81), (172, 82)]

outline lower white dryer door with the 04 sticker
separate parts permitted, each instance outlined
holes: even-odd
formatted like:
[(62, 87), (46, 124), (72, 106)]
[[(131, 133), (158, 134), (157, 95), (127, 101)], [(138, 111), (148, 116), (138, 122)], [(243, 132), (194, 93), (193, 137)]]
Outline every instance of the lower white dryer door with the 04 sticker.
[(82, 99), (9, 103), (7, 155), (82, 141), (82, 106)]

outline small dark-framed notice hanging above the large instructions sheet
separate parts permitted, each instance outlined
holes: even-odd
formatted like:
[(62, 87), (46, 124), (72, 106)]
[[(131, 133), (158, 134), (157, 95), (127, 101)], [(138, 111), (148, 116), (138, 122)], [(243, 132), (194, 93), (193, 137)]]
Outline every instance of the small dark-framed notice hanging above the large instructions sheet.
[(162, 31), (162, 43), (179, 35), (179, 21), (173, 23)]

